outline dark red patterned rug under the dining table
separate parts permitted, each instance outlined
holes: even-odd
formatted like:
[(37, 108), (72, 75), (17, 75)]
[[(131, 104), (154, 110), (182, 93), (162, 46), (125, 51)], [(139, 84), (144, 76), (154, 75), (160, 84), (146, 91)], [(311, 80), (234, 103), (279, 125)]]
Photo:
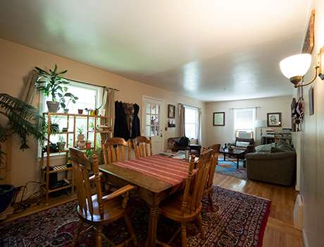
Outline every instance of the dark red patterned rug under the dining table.
[[(133, 196), (135, 212), (130, 218), (140, 246), (147, 239), (149, 208)], [(207, 239), (200, 239), (196, 227), (187, 227), (187, 246), (262, 246), (263, 233), (270, 212), (270, 200), (214, 186), (213, 200), (217, 212), (211, 212), (204, 197), (202, 220)], [(73, 201), (49, 210), (29, 215), (0, 226), (0, 246), (70, 246), (77, 226), (77, 202)], [(180, 224), (166, 217), (158, 223), (158, 239), (168, 241)], [(123, 219), (104, 227), (104, 234), (115, 243), (126, 238)], [(170, 243), (181, 246), (180, 234)], [(79, 238), (79, 246), (95, 246), (94, 231)], [(106, 242), (102, 246), (110, 247)], [(127, 247), (131, 247), (130, 243)]]

